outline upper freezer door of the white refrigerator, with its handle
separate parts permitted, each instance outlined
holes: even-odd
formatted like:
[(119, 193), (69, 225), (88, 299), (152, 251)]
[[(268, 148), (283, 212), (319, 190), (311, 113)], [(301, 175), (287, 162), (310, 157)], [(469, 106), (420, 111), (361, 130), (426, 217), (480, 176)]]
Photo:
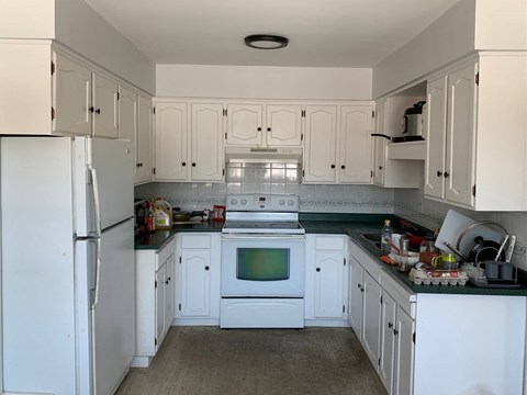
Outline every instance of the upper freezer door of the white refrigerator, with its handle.
[[(97, 234), (134, 215), (134, 168), (128, 140), (75, 138), (77, 236)], [(97, 204), (99, 203), (99, 204)]]

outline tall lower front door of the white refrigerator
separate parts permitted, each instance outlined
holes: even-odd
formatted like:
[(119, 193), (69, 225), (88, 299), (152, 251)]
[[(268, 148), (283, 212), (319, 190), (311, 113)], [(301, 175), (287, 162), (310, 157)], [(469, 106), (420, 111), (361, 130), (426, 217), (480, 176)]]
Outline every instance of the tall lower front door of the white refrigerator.
[(94, 394), (113, 394), (135, 353), (133, 218), (103, 232), (92, 308)]

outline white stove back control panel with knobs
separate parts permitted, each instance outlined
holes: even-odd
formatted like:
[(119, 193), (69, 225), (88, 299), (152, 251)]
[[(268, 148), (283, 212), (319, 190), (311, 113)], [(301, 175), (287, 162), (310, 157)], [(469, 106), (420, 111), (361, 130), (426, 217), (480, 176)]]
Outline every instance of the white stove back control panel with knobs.
[(298, 212), (300, 199), (298, 195), (229, 194), (226, 208), (227, 211)]

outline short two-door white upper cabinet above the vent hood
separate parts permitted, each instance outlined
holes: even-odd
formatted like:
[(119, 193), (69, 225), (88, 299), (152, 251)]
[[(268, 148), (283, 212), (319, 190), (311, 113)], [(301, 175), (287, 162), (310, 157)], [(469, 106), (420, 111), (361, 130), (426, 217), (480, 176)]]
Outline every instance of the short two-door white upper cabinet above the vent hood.
[(228, 103), (226, 144), (290, 147), (302, 145), (302, 105)]

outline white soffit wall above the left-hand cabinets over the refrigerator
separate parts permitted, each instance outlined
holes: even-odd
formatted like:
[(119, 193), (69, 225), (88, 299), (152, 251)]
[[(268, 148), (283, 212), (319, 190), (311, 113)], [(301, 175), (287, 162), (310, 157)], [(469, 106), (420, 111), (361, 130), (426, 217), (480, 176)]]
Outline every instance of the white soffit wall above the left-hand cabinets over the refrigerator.
[[(46, 0), (49, 1), (49, 0)], [(56, 38), (154, 94), (155, 64), (82, 0), (55, 0)]]

